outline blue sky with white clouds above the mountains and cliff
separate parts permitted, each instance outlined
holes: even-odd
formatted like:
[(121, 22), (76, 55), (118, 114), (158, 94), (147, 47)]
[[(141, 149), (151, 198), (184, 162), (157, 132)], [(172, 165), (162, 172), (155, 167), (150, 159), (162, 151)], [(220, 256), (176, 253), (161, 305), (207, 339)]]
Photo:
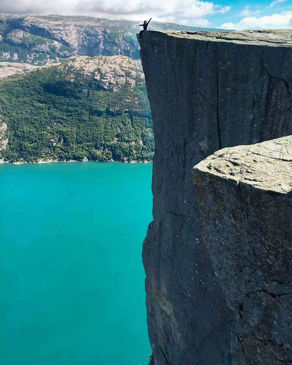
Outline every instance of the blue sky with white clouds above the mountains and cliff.
[(292, 0), (0, 0), (10, 14), (149, 19), (227, 29), (292, 28)]

